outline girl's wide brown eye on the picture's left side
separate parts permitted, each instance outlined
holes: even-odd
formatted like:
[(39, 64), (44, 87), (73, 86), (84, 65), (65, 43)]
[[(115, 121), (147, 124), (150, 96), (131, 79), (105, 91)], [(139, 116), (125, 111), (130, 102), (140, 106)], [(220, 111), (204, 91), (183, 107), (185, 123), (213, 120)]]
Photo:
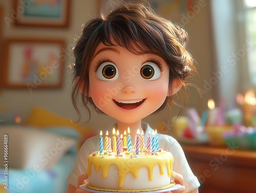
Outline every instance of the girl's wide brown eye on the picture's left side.
[(118, 70), (114, 63), (105, 62), (96, 71), (96, 76), (100, 80), (112, 81), (118, 78)]

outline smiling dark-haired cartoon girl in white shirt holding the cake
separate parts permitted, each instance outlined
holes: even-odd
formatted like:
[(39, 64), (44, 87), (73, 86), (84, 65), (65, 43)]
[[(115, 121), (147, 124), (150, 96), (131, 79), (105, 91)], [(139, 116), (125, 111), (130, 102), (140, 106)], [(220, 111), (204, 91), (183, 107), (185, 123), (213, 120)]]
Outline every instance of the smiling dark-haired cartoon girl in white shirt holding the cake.
[[(182, 28), (139, 3), (122, 4), (90, 20), (74, 48), (72, 99), (76, 110), (80, 96), (88, 111), (91, 104), (115, 118), (120, 133), (130, 127), (135, 136), (140, 128), (146, 137), (153, 130), (141, 119), (174, 103), (172, 96), (195, 72), (186, 44)], [(173, 192), (198, 192), (199, 181), (179, 143), (167, 135), (158, 137), (159, 147), (173, 154), (173, 178), (182, 185)], [(68, 192), (86, 192), (79, 185), (87, 178), (87, 156), (98, 147), (98, 137), (84, 142), (67, 180)]]

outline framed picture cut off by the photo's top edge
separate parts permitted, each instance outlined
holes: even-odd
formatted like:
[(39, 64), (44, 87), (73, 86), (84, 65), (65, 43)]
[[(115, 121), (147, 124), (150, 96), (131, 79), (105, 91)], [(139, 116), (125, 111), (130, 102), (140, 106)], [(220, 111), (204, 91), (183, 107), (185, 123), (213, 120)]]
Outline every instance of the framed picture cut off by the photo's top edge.
[(69, 26), (71, 0), (13, 0), (17, 26), (63, 27)]

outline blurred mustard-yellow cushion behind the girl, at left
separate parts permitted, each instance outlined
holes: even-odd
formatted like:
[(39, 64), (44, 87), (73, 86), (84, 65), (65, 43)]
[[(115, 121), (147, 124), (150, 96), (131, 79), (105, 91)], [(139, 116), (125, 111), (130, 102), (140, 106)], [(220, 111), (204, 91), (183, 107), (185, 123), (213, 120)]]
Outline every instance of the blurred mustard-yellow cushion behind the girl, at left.
[(34, 107), (31, 109), (30, 115), (25, 124), (36, 127), (71, 126), (82, 135), (88, 132), (85, 127), (72, 123), (71, 119), (61, 117), (40, 107)]

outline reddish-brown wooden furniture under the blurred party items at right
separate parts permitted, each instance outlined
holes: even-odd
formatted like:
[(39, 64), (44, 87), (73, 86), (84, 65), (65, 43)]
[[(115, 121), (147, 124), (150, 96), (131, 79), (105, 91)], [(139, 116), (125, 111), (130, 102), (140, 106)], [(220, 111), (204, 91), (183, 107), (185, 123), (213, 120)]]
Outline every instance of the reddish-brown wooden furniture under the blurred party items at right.
[(256, 192), (256, 151), (181, 144), (200, 193)]

